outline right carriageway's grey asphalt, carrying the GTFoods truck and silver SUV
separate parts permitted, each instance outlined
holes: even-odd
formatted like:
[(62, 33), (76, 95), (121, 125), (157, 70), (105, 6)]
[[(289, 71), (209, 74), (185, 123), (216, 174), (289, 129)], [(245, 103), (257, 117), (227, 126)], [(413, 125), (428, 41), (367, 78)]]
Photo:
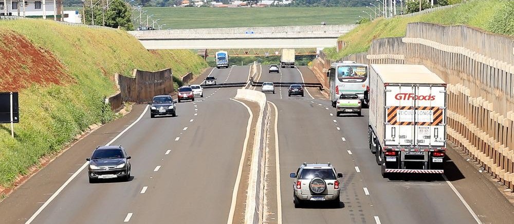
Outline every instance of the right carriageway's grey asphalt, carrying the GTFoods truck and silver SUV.
[[(277, 82), (277, 79), (301, 82), (298, 71), (281, 70), (281, 77), (263, 72), (260, 82)], [(279, 110), (283, 223), (375, 223), (375, 216), (381, 223), (476, 223), (442, 178), (404, 181), (381, 177), (380, 167), (368, 146), (367, 109), (362, 117), (336, 117), (328, 100), (287, 95), (281, 98), (277, 94), (267, 94), (267, 97)], [(345, 203), (344, 209), (293, 207), (292, 179), (288, 174), (304, 161), (331, 161), (338, 172), (343, 171), (341, 200)], [(356, 205), (360, 207), (355, 208)]]

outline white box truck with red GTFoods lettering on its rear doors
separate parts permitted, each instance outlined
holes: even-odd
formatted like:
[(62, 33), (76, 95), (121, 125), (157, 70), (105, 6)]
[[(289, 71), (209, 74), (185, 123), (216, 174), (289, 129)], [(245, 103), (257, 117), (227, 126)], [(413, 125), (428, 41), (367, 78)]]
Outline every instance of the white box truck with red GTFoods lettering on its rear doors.
[(368, 134), (382, 176), (444, 173), (446, 83), (423, 65), (370, 70)]

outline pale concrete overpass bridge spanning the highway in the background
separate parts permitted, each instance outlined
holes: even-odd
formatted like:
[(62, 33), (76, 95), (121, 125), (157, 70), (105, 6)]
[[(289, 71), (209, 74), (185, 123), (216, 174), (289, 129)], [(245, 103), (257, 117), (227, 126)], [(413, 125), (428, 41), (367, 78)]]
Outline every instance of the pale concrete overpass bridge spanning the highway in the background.
[(154, 49), (315, 49), (336, 46), (357, 25), (128, 31)]

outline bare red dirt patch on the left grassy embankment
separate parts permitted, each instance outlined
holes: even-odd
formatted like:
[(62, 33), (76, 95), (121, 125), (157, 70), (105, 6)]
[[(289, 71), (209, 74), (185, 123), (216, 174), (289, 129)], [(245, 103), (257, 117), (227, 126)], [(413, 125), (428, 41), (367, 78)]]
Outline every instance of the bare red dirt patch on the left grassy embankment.
[(32, 84), (73, 82), (53, 53), (34, 46), (24, 36), (0, 34), (0, 92), (19, 91)]

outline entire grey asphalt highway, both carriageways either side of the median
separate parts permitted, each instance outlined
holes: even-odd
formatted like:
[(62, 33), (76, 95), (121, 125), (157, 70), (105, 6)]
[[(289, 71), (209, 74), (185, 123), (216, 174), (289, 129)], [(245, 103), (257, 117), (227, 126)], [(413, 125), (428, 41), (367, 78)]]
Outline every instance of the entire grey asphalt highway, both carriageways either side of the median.
[[(269, 74), (267, 66), (258, 68), (258, 82), (313, 78), (300, 72), (304, 69)], [(246, 82), (249, 67), (213, 69), (209, 75), (217, 83)], [(227, 223), (249, 119), (245, 107), (229, 100), (236, 89), (204, 89), (204, 98), (177, 104), (177, 117), (151, 119), (146, 105), (134, 106), (130, 114), (78, 141), (2, 201), (0, 223)], [(288, 97), (287, 89), (276, 87), (275, 94), (266, 95), (268, 107), (277, 107), (270, 116), (278, 116), (272, 124), (277, 132), (271, 132), (278, 149), (268, 146), (265, 223), (481, 223), (463, 202), (469, 195), (459, 197), (441, 177), (382, 178), (368, 147), (367, 109), (362, 117), (336, 117), (329, 101), (317, 97), (316, 88), (308, 88), (304, 97)], [(109, 141), (123, 145), (132, 156), (130, 181), (89, 184), (82, 170), (58, 190), (96, 146)], [(343, 173), (339, 207), (319, 203), (294, 208), (289, 173), (303, 162), (331, 162)], [(458, 172), (451, 162), (447, 165), (447, 172)], [(48, 203), (49, 198), (53, 200)], [(472, 209), (479, 206), (474, 204)], [(504, 201), (498, 206), (505, 207)]]

